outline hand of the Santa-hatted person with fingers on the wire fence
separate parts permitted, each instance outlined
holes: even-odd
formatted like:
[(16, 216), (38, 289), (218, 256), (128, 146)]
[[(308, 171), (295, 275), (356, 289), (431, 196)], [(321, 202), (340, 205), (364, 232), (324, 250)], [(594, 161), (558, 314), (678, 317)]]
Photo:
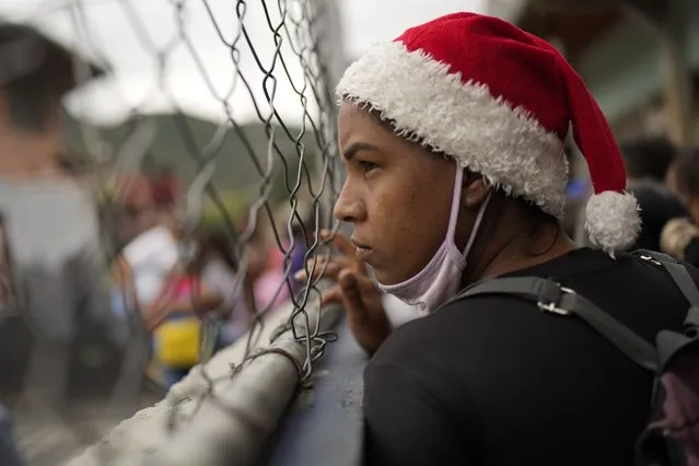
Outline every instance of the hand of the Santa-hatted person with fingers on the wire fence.
[[(324, 231), (322, 236), (330, 238), (330, 233)], [(382, 293), (369, 276), (366, 265), (357, 258), (356, 247), (347, 236), (336, 234), (333, 245), (340, 255), (311, 259), (307, 268), (312, 270), (315, 261), (313, 280), (323, 277), (337, 281), (337, 286), (323, 293), (322, 305), (341, 303), (354, 338), (368, 353), (373, 354), (391, 334)], [(302, 270), (294, 278), (306, 280), (306, 272)]]

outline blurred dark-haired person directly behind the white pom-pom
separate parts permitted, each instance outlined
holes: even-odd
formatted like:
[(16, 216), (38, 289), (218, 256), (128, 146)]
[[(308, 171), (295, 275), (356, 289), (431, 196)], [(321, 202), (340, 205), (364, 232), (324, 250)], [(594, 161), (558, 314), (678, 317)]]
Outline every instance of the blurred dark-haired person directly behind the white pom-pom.
[[(636, 196), (641, 209), (641, 232), (629, 251), (660, 251), (665, 224), (687, 214), (681, 199), (666, 185), (677, 149), (664, 137), (640, 138), (622, 143), (620, 149), (628, 176), (627, 189)], [(578, 237), (590, 245), (583, 223), (579, 222)]]

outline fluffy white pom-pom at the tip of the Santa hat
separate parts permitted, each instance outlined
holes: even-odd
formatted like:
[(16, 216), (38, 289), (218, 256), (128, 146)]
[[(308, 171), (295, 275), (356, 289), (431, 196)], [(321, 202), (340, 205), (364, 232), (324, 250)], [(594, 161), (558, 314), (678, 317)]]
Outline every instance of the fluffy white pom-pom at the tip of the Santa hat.
[(604, 191), (594, 195), (585, 209), (590, 241), (614, 257), (630, 247), (641, 231), (639, 203), (630, 193)]

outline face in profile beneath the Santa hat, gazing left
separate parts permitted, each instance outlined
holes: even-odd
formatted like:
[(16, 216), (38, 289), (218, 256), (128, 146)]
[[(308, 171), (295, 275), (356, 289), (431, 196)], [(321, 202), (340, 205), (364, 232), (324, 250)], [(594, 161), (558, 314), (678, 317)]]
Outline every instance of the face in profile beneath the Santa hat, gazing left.
[(335, 215), (353, 224), (358, 256), (382, 284), (418, 273), (446, 235), (456, 163), (396, 136), (342, 104), (339, 143), (347, 178)]

